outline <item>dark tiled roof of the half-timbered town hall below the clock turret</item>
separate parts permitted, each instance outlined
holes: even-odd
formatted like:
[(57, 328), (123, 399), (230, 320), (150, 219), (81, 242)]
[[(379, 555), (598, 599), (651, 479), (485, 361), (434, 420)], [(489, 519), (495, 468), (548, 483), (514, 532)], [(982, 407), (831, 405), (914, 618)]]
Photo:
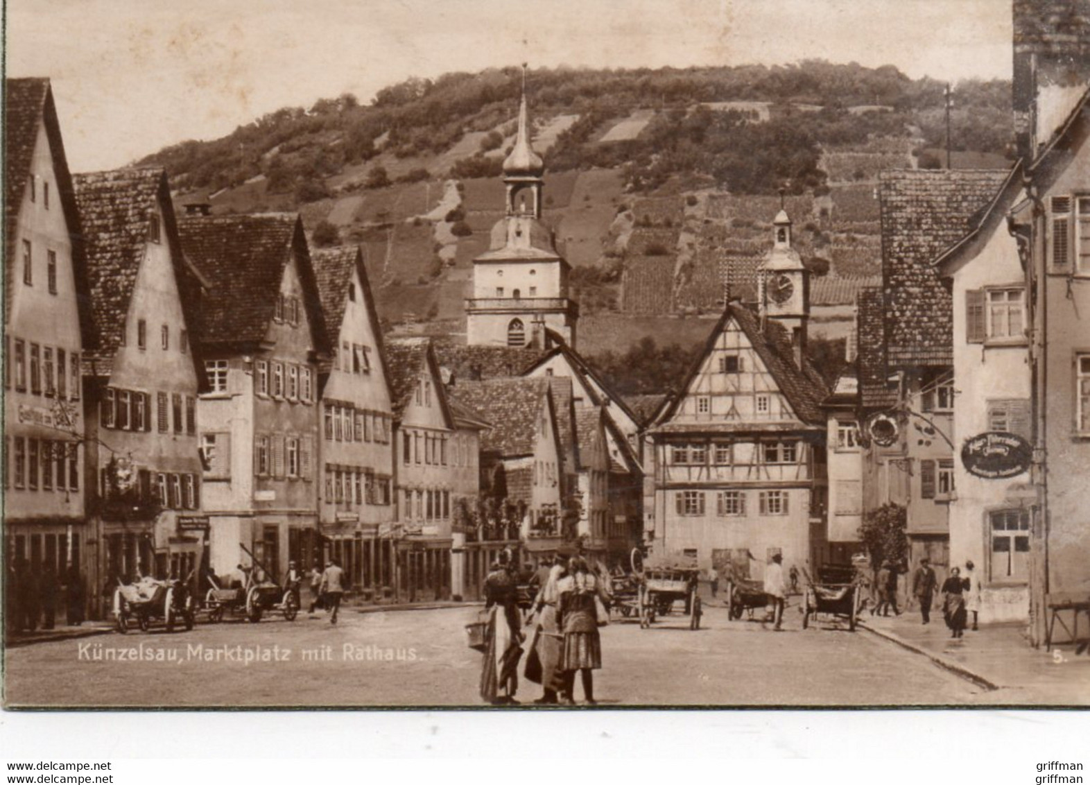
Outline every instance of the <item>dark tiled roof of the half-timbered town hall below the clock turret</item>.
[[(821, 374), (814, 370), (809, 360), (803, 359), (801, 369), (796, 365), (791, 339), (783, 325), (775, 319), (767, 319), (764, 329), (762, 329), (758, 315), (739, 303), (730, 303), (724, 309), (723, 316), (707, 337), (704, 351), (690, 366), (680, 389), (689, 389), (693, 377), (700, 372), (707, 355), (714, 349), (716, 339), (730, 318), (734, 318), (746, 334), (753, 350), (761, 358), (761, 362), (772, 374), (779, 391), (787, 398), (796, 416), (809, 424), (823, 423), (825, 416), (821, 409), (821, 402), (828, 395), (828, 388)], [(682, 397), (678, 396), (669, 403), (661, 415), (664, 424), (657, 426), (656, 431), (669, 428), (668, 419), (674, 414)], [(715, 423), (713, 427), (722, 425), (723, 423)], [(707, 425), (701, 427), (706, 428)]]

